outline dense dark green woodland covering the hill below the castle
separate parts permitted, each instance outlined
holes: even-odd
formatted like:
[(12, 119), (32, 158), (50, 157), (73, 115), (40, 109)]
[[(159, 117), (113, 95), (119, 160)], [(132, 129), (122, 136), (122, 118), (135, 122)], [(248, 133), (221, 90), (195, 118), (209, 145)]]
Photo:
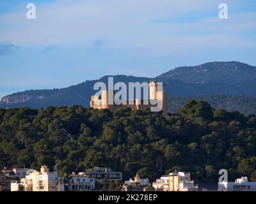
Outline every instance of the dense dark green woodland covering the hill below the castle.
[(109, 166), (123, 179), (139, 171), (151, 182), (173, 170), (191, 172), (197, 183), (217, 182), (221, 168), (228, 180), (256, 180), (256, 116), (195, 100), (169, 117), (129, 108), (0, 109), (0, 167), (42, 164), (63, 174)]

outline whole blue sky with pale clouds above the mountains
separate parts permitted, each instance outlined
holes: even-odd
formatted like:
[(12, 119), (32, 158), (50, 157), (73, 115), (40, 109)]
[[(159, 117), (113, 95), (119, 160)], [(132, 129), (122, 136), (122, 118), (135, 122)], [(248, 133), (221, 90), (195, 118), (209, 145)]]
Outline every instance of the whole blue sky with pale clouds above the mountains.
[(212, 61), (256, 66), (255, 0), (0, 1), (0, 98)]

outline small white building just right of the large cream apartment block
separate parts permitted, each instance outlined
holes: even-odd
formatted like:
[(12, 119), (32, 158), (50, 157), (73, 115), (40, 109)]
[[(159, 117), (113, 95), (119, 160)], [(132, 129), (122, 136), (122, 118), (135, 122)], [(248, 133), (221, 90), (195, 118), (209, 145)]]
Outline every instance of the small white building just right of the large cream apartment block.
[(68, 177), (68, 191), (92, 191), (95, 189), (95, 179), (87, 175), (72, 174)]

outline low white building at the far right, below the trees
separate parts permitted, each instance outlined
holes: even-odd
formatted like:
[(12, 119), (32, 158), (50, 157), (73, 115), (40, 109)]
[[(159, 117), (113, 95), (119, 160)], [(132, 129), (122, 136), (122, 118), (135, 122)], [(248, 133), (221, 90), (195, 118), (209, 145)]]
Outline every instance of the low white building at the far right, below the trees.
[(219, 182), (218, 191), (256, 191), (256, 182), (248, 182), (247, 177), (236, 179), (235, 182)]

